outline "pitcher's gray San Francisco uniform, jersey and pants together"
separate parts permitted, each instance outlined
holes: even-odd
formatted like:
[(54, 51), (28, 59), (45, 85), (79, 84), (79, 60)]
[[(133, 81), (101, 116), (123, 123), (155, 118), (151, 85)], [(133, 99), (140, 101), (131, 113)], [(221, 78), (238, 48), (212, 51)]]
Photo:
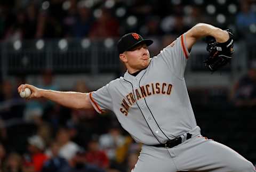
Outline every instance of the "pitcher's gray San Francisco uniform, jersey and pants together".
[[(126, 72), (90, 93), (94, 109), (114, 111), (122, 127), (143, 143), (133, 172), (255, 172), (252, 163), (237, 152), (201, 136), (183, 77), (188, 56), (185, 35), (181, 35), (137, 76)], [(188, 132), (192, 137), (187, 140)], [(173, 148), (150, 146), (178, 136), (183, 136), (182, 143)]]

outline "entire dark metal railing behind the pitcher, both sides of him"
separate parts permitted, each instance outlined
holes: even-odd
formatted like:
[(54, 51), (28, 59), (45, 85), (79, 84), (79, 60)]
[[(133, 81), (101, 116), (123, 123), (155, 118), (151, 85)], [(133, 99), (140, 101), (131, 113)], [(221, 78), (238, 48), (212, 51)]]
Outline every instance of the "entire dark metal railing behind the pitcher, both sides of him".
[[(51, 69), (55, 73), (118, 72), (121, 70), (121, 65), (115, 42), (114, 39), (92, 42), (89, 39), (62, 39), (1, 43), (2, 77), (21, 73), (40, 73), (44, 69)], [(197, 43), (193, 47), (186, 72), (207, 71), (203, 63), (207, 56), (205, 47), (204, 43)], [(236, 43), (234, 59), (223, 69), (223, 72), (229, 71), (230, 75), (236, 75), (247, 70), (247, 55), (244, 47), (244, 43)]]

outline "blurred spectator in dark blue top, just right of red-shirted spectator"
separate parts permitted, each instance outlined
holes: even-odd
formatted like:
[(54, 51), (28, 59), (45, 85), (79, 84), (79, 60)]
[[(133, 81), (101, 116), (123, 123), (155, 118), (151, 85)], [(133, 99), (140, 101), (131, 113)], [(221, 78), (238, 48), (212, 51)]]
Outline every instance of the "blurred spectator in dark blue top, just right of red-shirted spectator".
[(51, 144), (52, 157), (44, 163), (42, 172), (68, 172), (70, 166), (65, 158), (59, 155), (60, 146), (56, 142)]

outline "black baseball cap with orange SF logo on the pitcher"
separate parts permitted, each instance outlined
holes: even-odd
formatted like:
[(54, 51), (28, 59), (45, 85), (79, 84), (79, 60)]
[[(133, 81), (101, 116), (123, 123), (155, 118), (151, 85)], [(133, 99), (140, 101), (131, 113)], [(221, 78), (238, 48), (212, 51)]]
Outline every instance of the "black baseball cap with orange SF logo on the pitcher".
[(147, 46), (153, 44), (153, 40), (143, 39), (142, 36), (136, 33), (129, 33), (122, 36), (117, 43), (118, 53), (122, 54), (125, 51), (131, 50), (140, 43), (145, 43)]

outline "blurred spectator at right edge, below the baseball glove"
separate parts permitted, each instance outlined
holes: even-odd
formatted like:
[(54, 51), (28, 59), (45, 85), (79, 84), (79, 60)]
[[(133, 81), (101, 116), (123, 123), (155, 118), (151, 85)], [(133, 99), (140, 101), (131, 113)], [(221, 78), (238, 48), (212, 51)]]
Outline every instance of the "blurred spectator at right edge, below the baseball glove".
[(251, 68), (235, 84), (231, 98), (237, 107), (256, 106), (256, 68)]

